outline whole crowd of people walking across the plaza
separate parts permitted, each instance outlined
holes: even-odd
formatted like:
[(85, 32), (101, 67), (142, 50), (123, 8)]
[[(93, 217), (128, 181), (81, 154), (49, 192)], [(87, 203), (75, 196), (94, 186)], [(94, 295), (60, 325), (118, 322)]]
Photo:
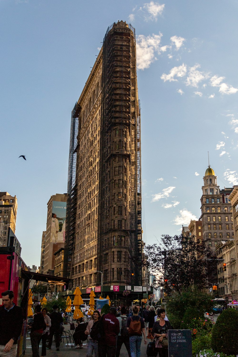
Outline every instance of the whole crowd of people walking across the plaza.
[[(0, 356), (15, 357), (23, 313), (22, 309), (13, 303), (12, 291), (5, 291), (1, 295), (3, 305), (0, 307)], [(53, 309), (49, 314), (46, 307), (35, 306), (33, 322), (28, 326), (32, 357), (40, 357), (40, 341), (41, 357), (46, 356), (46, 348), (51, 349), (54, 336), (56, 351), (59, 351), (64, 312), (59, 312), (57, 305), (54, 305)], [(145, 345), (147, 340), (155, 340), (159, 357), (167, 357), (167, 332), (171, 328), (162, 308), (155, 310), (153, 306), (141, 307), (139, 304), (132, 307), (111, 306), (107, 314), (101, 315), (100, 311), (94, 310), (88, 323), (85, 323), (82, 317), (77, 320), (73, 338), (75, 348), (82, 348), (83, 341), (87, 340), (87, 357), (93, 357), (93, 352), (95, 357), (119, 357), (123, 343), (128, 357), (140, 357), (142, 336)]]

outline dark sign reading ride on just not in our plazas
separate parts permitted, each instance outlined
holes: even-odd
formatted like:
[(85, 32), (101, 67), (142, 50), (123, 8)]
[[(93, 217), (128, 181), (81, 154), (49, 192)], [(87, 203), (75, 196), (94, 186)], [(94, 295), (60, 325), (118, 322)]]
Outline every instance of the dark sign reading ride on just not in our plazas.
[(168, 356), (192, 357), (191, 330), (168, 330)]

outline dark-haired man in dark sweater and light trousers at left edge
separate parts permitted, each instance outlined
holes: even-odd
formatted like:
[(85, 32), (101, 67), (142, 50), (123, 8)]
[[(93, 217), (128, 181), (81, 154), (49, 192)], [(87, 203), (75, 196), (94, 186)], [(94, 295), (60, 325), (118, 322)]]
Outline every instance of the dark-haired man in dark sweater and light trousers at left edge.
[(23, 325), (23, 311), (13, 303), (14, 292), (6, 290), (1, 293), (0, 307), (0, 356), (15, 357), (17, 340)]

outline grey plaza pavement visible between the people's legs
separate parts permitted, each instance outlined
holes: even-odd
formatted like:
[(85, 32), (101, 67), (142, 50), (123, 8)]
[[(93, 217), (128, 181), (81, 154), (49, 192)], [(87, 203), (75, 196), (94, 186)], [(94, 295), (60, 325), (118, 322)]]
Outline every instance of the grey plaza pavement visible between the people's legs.
[[(68, 331), (70, 328), (70, 325), (64, 325), (65, 331)], [(147, 339), (147, 342), (150, 342), (150, 340)], [(55, 343), (53, 340), (51, 350), (48, 350), (46, 348), (46, 357), (75, 357), (75, 356), (80, 356), (80, 357), (86, 357), (87, 354), (87, 345), (85, 342), (83, 342), (83, 348), (71, 348), (71, 346), (66, 346), (66, 341), (63, 343), (63, 341), (60, 344), (60, 351), (56, 351)], [(39, 348), (39, 355), (41, 356), (41, 343), (40, 343), (40, 348)], [(147, 345), (145, 345), (144, 342), (144, 337), (142, 336), (142, 342), (141, 342), (141, 357), (147, 357), (146, 355), (146, 348)], [(25, 352), (25, 357), (31, 357), (32, 356), (32, 350), (31, 350), (31, 340), (29, 334), (27, 334), (26, 337), (26, 352)], [(94, 354), (93, 354), (94, 356)], [(128, 353), (126, 350), (125, 345), (122, 345), (121, 352), (120, 352), (120, 357), (128, 357)]]

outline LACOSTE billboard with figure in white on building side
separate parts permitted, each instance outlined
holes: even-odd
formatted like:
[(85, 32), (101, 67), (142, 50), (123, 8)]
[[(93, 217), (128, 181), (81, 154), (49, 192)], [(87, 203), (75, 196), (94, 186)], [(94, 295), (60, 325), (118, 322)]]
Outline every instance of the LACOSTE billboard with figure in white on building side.
[(52, 217), (50, 229), (50, 242), (65, 241), (66, 202), (52, 202)]

